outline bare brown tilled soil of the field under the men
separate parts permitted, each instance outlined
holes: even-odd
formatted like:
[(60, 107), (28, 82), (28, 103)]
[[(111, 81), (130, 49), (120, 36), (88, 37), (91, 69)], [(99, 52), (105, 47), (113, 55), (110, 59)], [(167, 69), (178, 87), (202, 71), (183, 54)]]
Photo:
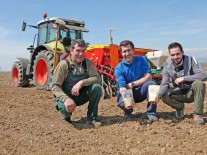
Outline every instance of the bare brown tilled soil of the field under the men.
[[(10, 73), (0, 73), (0, 154), (207, 154), (207, 95), (205, 125), (195, 125), (192, 104), (177, 121), (174, 110), (158, 103), (159, 122), (149, 124), (146, 102), (136, 104), (133, 120), (123, 120), (116, 98), (101, 99), (103, 126), (63, 123), (51, 91), (14, 88)], [(77, 107), (72, 119), (86, 116), (87, 105)]]

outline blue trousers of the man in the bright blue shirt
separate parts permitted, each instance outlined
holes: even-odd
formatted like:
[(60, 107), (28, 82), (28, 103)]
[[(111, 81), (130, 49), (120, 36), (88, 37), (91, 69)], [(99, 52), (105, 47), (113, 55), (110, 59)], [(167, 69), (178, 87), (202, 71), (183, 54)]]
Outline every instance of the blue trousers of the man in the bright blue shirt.
[[(156, 85), (154, 81), (147, 81), (141, 86), (134, 87), (132, 89), (134, 102), (139, 103), (147, 99), (148, 97), (148, 87), (149, 85)], [(122, 96), (118, 93), (117, 96), (117, 106), (120, 107), (126, 114), (131, 114), (133, 109), (126, 109)], [(157, 104), (151, 104), (148, 102), (147, 104), (147, 115), (154, 115), (157, 110)]]

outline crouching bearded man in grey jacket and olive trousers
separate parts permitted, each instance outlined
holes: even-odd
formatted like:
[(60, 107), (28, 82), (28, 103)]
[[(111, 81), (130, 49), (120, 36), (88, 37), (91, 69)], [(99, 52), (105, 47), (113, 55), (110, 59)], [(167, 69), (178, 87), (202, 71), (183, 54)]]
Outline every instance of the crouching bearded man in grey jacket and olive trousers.
[[(170, 58), (164, 64), (160, 97), (176, 109), (176, 117), (184, 118), (184, 103), (194, 102), (193, 118), (204, 124), (202, 117), (207, 76), (194, 57), (184, 55), (182, 46), (175, 42), (168, 46)], [(170, 85), (170, 81), (172, 85)]]

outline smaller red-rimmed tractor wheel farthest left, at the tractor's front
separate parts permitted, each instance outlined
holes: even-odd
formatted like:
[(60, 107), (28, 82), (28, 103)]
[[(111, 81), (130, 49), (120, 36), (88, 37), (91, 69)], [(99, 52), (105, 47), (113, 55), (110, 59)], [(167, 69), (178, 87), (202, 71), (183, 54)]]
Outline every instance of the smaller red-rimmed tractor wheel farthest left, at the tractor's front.
[(29, 86), (29, 77), (24, 72), (21, 61), (14, 62), (11, 71), (11, 81), (15, 87)]

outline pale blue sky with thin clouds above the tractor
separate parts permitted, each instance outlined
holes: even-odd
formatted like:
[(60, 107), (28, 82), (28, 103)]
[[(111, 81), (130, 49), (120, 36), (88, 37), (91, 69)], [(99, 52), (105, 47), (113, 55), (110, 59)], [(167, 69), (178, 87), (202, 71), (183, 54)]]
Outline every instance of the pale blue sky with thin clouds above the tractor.
[(17, 57), (30, 58), (27, 47), (44, 12), (50, 17), (85, 21), (90, 45), (109, 45), (131, 40), (135, 47), (167, 50), (172, 42), (182, 44), (185, 54), (207, 62), (206, 0), (1, 0), (0, 71), (10, 71)]

